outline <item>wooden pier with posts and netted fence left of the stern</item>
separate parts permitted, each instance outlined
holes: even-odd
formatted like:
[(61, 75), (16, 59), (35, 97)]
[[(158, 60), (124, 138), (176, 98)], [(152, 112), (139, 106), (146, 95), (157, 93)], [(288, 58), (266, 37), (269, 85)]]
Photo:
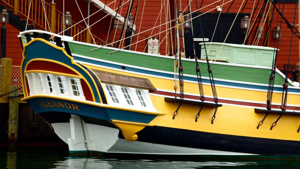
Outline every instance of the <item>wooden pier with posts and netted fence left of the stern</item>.
[(6, 57), (0, 65), (0, 144), (61, 142), (49, 124), (21, 100), (21, 67), (12, 66), (12, 59)]

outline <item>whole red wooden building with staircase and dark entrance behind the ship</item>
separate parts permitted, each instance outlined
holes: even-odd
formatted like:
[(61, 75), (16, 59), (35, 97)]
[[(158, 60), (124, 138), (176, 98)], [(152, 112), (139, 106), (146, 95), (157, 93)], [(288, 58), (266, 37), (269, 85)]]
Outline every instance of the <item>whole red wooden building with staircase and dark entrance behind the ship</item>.
[[(231, 29), (231, 35), (229, 35), (227, 41), (234, 41), (236, 43), (242, 42), (242, 37), (243, 37), (243, 30), (240, 28), (240, 20), (242, 16), (249, 16), (251, 17), (251, 13), (253, 12), (253, 2), (247, 2), (245, 5), (245, 1), (238, 0), (234, 1), (232, 3), (231, 1), (226, 1), (226, 4), (222, 4), (223, 1), (205, 1), (202, 3), (202, 1), (190, 1), (189, 5), (189, 10), (187, 7), (187, 2), (181, 2), (181, 6), (179, 5), (178, 7), (175, 6), (174, 9), (168, 9), (170, 6), (170, 2), (167, 1), (159, 1), (159, 0), (151, 0), (151, 1), (113, 1), (113, 0), (107, 0), (107, 1), (102, 1), (102, 3), (98, 0), (90, 0), (90, 19), (89, 19), (89, 25), (90, 26), (90, 31), (93, 34), (92, 36), (88, 35), (88, 31), (84, 30), (84, 28), (87, 27), (87, 19), (85, 19), (85, 22), (82, 21), (82, 18), (86, 18), (88, 16), (88, 1), (75, 1), (75, 0), (65, 0), (65, 4), (62, 4), (62, 1), (55, 1), (52, 3), (52, 0), (46, 0), (45, 6), (46, 6), (46, 16), (48, 21), (45, 21), (45, 15), (44, 15), (44, 10), (42, 8), (43, 3), (36, 1), (32, 2), (32, 5), (29, 4), (30, 1), (8, 1), (8, 0), (1, 0), (2, 4), (2, 9), (7, 9), (10, 11), (10, 14), (14, 16), (19, 16), (19, 22), (24, 22), (26, 20), (26, 17), (29, 13), (29, 24), (34, 25), (35, 29), (45, 29), (46, 25), (46, 30), (51, 30), (52, 32), (55, 33), (60, 33), (63, 31), (63, 26), (62, 26), (62, 20), (63, 20), (63, 13), (65, 11), (69, 11), (70, 14), (72, 15), (72, 20), (75, 25), (75, 23), (80, 22), (76, 26), (72, 27), (70, 29), (71, 35), (79, 41), (87, 41), (90, 43), (94, 43), (93, 40), (91, 40), (91, 37), (94, 37), (95, 42), (97, 44), (109, 44), (111, 42), (115, 42), (112, 44), (114, 47), (117, 47), (117, 44), (120, 35), (122, 32), (122, 27), (124, 20), (126, 20), (127, 13), (132, 14), (134, 17), (134, 25), (135, 25), (135, 36), (132, 37), (131, 39), (131, 44), (134, 44), (131, 46), (131, 50), (136, 50), (136, 51), (142, 51), (146, 52), (146, 44), (147, 44), (147, 37), (155, 35), (156, 38), (160, 39), (160, 50), (159, 52), (162, 55), (166, 55), (169, 53), (168, 51), (168, 44), (167, 44), (167, 39), (170, 39), (169, 36), (167, 36), (167, 29), (170, 28), (170, 25), (166, 26), (165, 23), (166, 20), (170, 19), (170, 15), (173, 15), (175, 11), (178, 9), (184, 13), (188, 11), (196, 11), (197, 8), (201, 8), (199, 10), (199, 14), (208, 12), (208, 14), (204, 14), (201, 16), (201, 26), (203, 29), (203, 34), (205, 32), (213, 32), (214, 27), (211, 27), (209, 24), (210, 22), (214, 22), (215, 25), (220, 24), (220, 22), (223, 22), (221, 26), (219, 26), (219, 32), (216, 30), (216, 33), (214, 35), (214, 39), (216, 37), (220, 37), (220, 33), (224, 32), (223, 28), (224, 27), (230, 27), (229, 22), (226, 21), (226, 19), (229, 18), (234, 18), (235, 15), (239, 12), (242, 12), (242, 14), (239, 14), (236, 18), (237, 23), (232, 26)], [(132, 2), (131, 6), (132, 8), (130, 9), (130, 2)], [(177, 2), (177, 1), (176, 1)], [(265, 1), (268, 2), (268, 1)], [(288, 2), (288, 1), (286, 1)], [(173, 2), (175, 3), (175, 1)], [(197, 5), (196, 5), (197, 3)], [(253, 15), (253, 18), (256, 18), (257, 13), (260, 9), (260, 6), (264, 1), (256, 1), (254, 4), (254, 12), (255, 14)], [(17, 4), (17, 5), (16, 5)], [(100, 5), (99, 5), (100, 4)], [(104, 4), (107, 6), (105, 8)], [(256, 6), (256, 4), (258, 4)], [(102, 5), (102, 6), (101, 6)], [(172, 5), (172, 4), (171, 4)], [(298, 24), (298, 7), (295, 6), (294, 3), (285, 3), (284, 4), (284, 10), (282, 10), (283, 7), (283, 2), (279, 3), (277, 2), (276, 7), (279, 9), (280, 12), (283, 13), (283, 16), (288, 20), (290, 23), (293, 23), (294, 16), (295, 16), (295, 25)], [(29, 8), (31, 6), (31, 8)], [(79, 8), (80, 10), (79, 10)], [(217, 16), (219, 12), (217, 11), (216, 7), (221, 6), (222, 12), (220, 15), (219, 22), (216, 22)], [(203, 8), (206, 7), (206, 8)], [(16, 9), (17, 8), (17, 9)], [(54, 8), (54, 12), (53, 12)], [(267, 10), (270, 9), (269, 13)], [(296, 13), (295, 13), (296, 9)], [(275, 26), (279, 26), (280, 23), (277, 22), (277, 20), (281, 20), (280, 17), (278, 17), (278, 13), (274, 11), (273, 17), (272, 16), (272, 11), (273, 11), (273, 5), (267, 4), (263, 6), (261, 9), (263, 12), (260, 13), (260, 15), (257, 17), (257, 20), (266, 17), (265, 22), (261, 25), (264, 29), (264, 34), (267, 35), (267, 38), (265, 39), (259, 39), (258, 44), (259, 45), (266, 45), (269, 47), (277, 47), (277, 40), (272, 38), (272, 31), (275, 29)], [(98, 11), (98, 12), (97, 12)], [(112, 13), (112, 11), (115, 11), (115, 13)], [(169, 12), (171, 11), (171, 12)], [(96, 12), (96, 13), (95, 13)], [(95, 14), (94, 14), (95, 13)], [(197, 13), (193, 13), (192, 16), (197, 16), (199, 15)], [(53, 17), (55, 16), (55, 17)], [(116, 17), (117, 16), (117, 17)], [(103, 18), (104, 19), (101, 19)], [(223, 20), (222, 20), (223, 18)], [(225, 18), (225, 19), (224, 19)], [(252, 20), (253, 20), (252, 18)], [(194, 35), (197, 35), (197, 33), (200, 35), (200, 28), (199, 28), (199, 23), (194, 24), (194, 21), (196, 19), (193, 19), (193, 33)], [(118, 24), (119, 21), (119, 24)], [(272, 22), (271, 22), (272, 21)], [(13, 22), (13, 23), (12, 23)], [(49, 24), (47, 24), (47, 22)], [(285, 22), (283, 20), (283, 22)], [(224, 23), (227, 23), (224, 24)], [(271, 23), (270, 26), (270, 33), (267, 34), (268, 30), (268, 25)], [(20, 31), (25, 30), (24, 26), (18, 26), (17, 21), (11, 21), (7, 23), (5, 26), (7, 28), (7, 45), (6, 45), (6, 57), (10, 57), (13, 59), (13, 65), (19, 66), (22, 60), (22, 49), (21, 45), (19, 44), (19, 39), (17, 38), (17, 35), (19, 34)], [(117, 25), (118, 24), (118, 25)], [(250, 22), (250, 26), (253, 24), (253, 22)], [(2, 26), (2, 25), (1, 25)], [(118, 27), (118, 28), (116, 28)], [(154, 29), (151, 29), (154, 28)], [(298, 27), (296, 27), (298, 29)], [(32, 28), (31, 28), (32, 29)], [(124, 28), (125, 30), (127, 29), (126, 27)], [(250, 34), (250, 38), (248, 39), (248, 45), (251, 43), (254, 43), (251, 41), (253, 35), (255, 35), (255, 31), (257, 29), (257, 25), (253, 26), (253, 30)], [(148, 30), (148, 31), (147, 31)], [(226, 30), (226, 29), (224, 29)], [(227, 29), (228, 30), (228, 29)], [(284, 64), (288, 63), (288, 58), (289, 58), (289, 53), (290, 53), (290, 64), (291, 65), (296, 65), (297, 62), (299, 62), (299, 45), (298, 45), (298, 38), (294, 35), (292, 38), (292, 47), (290, 50), (290, 44), (291, 44), (291, 35), (292, 31), (287, 28), (286, 23), (281, 24), (281, 39), (279, 41), (279, 49), (280, 51), (278, 52), (277, 56), (277, 66), (282, 66)], [(161, 32), (161, 33), (160, 33)], [(200, 33), (199, 33), (200, 32)], [(250, 29), (249, 29), (250, 32)], [(208, 35), (208, 34), (206, 34)], [(206, 37), (205, 35), (205, 37)], [(124, 36), (124, 33), (123, 33)], [(175, 35), (172, 34), (174, 37)], [(208, 35), (208, 37), (211, 37), (212, 35)], [(200, 37), (200, 36), (199, 36)], [(195, 38), (195, 37), (194, 37)], [(198, 38), (198, 37), (196, 37)], [(102, 41), (101, 41), (101, 40)], [(236, 39), (240, 39), (240, 41), (236, 41)], [(211, 40), (211, 39), (209, 39)], [(265, 41), (263, 41), (265, 40)], [(140, 41), (137, 45), (135, 42)], [(221, 41), (221, 40), (219, 40)], [(222, 40), (223, 42), (223, 40)], [(181, 46), (183, 46), (184, 41), (181, 41)], [(119, 48), (125, 47), (125, 42), (120, 41), (119, 43)], [(184, 48), (184, 47), (182, 47)], [(174, 51), (174, 50), (173, 50)], [(291, 51), (291, 52), (290, 52)]]

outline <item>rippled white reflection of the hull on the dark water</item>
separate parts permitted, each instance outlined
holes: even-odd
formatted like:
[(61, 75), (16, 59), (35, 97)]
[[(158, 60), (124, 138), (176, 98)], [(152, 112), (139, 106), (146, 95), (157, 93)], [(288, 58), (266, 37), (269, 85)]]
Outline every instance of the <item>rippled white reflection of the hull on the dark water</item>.
[(64, 161), (57, 161), (54, 168), (77, 169), (77, 168), (101, 168), (101, 169), (187, 169), (187, 168), (233, 168), (237, 166), (251, 165), (257, 168), (256, 162), (220, 162), (220, 161), (166, 161), (166, 160), (119, 160), (119, 159), (94, 159), (94, 158), (66, 158)]

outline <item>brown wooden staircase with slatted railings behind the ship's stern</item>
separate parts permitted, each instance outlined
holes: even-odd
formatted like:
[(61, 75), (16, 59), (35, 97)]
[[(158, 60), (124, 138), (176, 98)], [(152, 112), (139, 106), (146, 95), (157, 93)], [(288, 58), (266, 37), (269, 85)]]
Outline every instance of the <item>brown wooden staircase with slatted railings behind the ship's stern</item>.
[[(2, 10), (4, 8), (7, 10), (7, 13), (9, 13), (9, 23), (21, 31), (26, 29), (28, 18), (27, 30), (39, 29), (56, 34), (63, 34), (64, 20), (62, 18), (64, 14), (55, 9), (55, 3), (48, 4), (39, 0), (1, 0), (0, 9)], [(88, 29), (78, 24), (76, 25), (73, 20), (70, 27), (70, 36), (72, 36), (75, 41), (91, 43), (95, 40), (95, 44), (97, 45), (105, 44), (105, 42), (97, 36), (90, 34)]]

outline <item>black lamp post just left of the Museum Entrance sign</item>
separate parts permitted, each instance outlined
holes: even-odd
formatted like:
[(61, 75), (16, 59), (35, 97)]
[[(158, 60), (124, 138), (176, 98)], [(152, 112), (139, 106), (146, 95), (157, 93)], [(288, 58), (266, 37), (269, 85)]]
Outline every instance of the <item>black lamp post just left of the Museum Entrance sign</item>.
[(193, 56), (193, 39), (192, 39), (192, 35), (191, 35), (191, 21), (190, 21), (190, 13), (185, 14), (184, 17), (184, 51), (185, 51), (185, 57), (189, 58), (189, 57), (194, 57)]

